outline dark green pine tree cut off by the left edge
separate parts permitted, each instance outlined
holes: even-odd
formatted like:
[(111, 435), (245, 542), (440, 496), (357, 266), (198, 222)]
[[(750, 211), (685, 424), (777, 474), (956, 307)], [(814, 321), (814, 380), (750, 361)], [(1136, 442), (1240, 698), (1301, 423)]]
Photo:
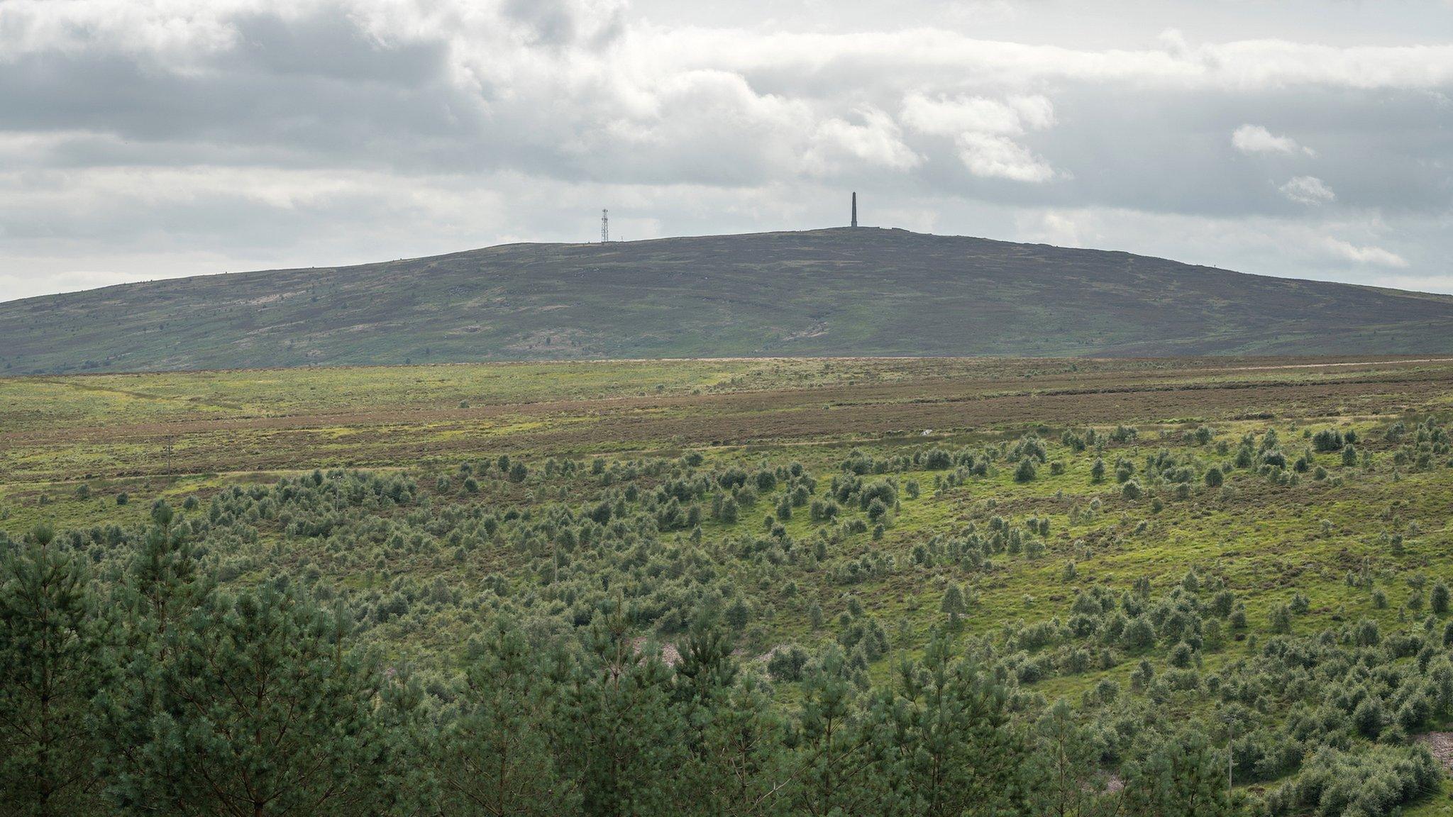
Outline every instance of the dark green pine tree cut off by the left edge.
[(102, 683), (84, 563), (49, 526), (0, 545), (0, 813), (94, 814), (96, 743), (86, 725)]

